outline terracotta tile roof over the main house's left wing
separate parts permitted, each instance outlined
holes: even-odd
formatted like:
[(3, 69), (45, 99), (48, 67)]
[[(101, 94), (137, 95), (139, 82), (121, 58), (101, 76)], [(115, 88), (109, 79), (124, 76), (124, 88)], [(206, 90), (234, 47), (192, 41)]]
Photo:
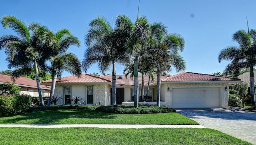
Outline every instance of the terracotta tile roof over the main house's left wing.
[[(42, 83), (51, 83), (52, 80), (45, 80)], [(111, 82), (105, 78), (100, 78), (91, 74), (82, 74), (80, 78), (77, 76), (66, 76), (61, 80), (56, 80), (56, 83), (82, 83), (82, 82)]]

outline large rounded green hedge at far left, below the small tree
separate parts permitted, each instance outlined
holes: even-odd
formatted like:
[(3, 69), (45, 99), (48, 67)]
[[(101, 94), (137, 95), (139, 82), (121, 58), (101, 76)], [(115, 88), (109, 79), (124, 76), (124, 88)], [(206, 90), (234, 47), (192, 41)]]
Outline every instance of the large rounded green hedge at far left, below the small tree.
[(2, 116), (14, 116), (25, 113), (31, 105), (31, 96), (29, 95), (7, 95), (0, 96), (0, 112)]

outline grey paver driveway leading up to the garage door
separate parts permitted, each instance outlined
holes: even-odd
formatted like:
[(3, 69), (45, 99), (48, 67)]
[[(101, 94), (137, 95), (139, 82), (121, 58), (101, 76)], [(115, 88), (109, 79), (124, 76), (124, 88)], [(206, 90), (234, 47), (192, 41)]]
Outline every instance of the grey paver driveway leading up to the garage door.
[(207, 128), (256, 145), (256, 113), (236, 109), (177, 109)]

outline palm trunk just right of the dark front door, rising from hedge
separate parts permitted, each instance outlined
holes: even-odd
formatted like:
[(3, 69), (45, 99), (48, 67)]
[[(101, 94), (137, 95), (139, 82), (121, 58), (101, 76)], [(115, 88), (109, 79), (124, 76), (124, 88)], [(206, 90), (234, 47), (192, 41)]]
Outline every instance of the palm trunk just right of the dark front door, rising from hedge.
[(139, 107), (138, 57), (134, 60), (134, 107)]

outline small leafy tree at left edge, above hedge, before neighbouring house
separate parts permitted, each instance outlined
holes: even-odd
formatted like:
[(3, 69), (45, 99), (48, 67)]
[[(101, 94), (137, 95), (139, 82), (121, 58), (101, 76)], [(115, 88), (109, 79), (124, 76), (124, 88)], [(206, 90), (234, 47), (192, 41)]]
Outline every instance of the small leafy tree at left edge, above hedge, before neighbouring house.
[(19, 94), (19, 92), (20, 87), (14, 85), (14, 83), (0, 84), (0, 95)]

